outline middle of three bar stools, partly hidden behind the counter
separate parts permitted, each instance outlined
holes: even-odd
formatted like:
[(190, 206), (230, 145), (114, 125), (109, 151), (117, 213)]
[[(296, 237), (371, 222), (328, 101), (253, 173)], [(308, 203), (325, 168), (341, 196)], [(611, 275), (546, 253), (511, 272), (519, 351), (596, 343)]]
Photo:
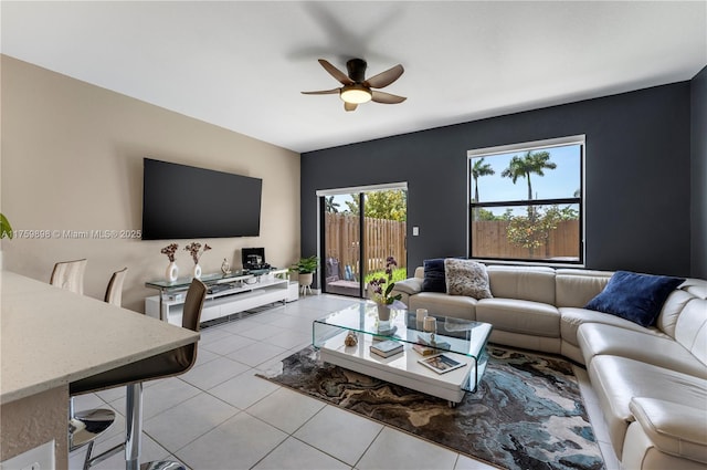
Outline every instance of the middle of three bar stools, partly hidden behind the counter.
[[(123, 303), (123, 284), (125, 283), (127, 271), (127, 268), (123, 268), (110, 276), (104, 295), (106, 303), (117, 306)], [(115, 412), (105, 408), (74, 412), (74, 398), (71, 397), (68, 416), (68, 451), (73, 452), (87, 445), (88, 449), (84, 461), (84, 468), (87, 468), (86, 462), (89, 460), (95, 440), (115, 422)]]

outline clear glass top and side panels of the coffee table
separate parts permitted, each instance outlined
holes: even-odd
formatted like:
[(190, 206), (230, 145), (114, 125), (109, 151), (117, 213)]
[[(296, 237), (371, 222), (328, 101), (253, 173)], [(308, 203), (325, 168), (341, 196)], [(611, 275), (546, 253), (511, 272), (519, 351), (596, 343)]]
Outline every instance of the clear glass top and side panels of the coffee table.
[[(425, 355), (461, 354), (469, 359), (471, 365), (468, 380), (462, 384), (462, 389), (475, 391), (486, 369), (488, 361), (486, 343), (493, 326), (489, 323), (455, 318), (434, 312), (429, 316), (436, 318), (436, 333), (425, 332), (423, 322), (416, 321), (415, 312), (404, 310), (392, 310), (391, 327), (381, 332), (379, 331), (377, 305), (372, 302), (360, 303), (315, 320), (312, 327), (312, 343), (319, 349), (327, 348), (327, 353), (331, 348), (336, 348), (337, 354), (358, 355), (359, 359), (363, 356), (370, 357), (367, 352), (370, 344), (384, 340), (403, 343), (405, 355), (410, 355), (415, 361), (425, 357), (418, 351), (413, 352), (421, 346), (432, 349), (426, 351)], [(357, 346), (342, 345), (349, 332), (357, 335)], [(354, 357), (351, 359), (356, 361)], [(405, 362), (401, 361), (401, 363), (403, 364), (401, 367), (405, 367)], [(395, 364), (390, 362), (388, 365), (394, 366)]]

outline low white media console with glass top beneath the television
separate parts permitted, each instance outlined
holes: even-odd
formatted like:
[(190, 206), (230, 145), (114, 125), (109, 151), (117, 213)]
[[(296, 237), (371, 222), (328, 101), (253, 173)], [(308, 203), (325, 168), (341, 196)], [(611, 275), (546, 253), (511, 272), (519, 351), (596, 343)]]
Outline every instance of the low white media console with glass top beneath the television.
[[(202, 276), (201, 281), (209, 288), (201, 311), (202, 323), (262, 305), (298, 299), (298, 284), (289, 281), (287, 269), (256, 274), (212, 274)], [(160, 293), (145, 299), (145, 314), (181, 326), (190, 283), (191, 279), (146, 283), (146, 286), (158, 289)]]

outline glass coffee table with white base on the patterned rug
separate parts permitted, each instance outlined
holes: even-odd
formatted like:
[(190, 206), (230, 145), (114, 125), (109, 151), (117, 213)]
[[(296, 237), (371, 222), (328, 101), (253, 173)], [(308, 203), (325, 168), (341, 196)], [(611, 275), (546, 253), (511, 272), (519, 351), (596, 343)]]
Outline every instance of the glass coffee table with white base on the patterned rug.
[[(315, 320), (312, 343), (327, 363), (446, 399), (454, 406), (466, 391), (476, 391), (488, 361), (486, 342), (492, 325), (434, 312), (429, 315), (436, 318), (435, 334), (424, 331), (414, 312), (402, 310), (391, 311), (392, 328), (381, 333), (376, 304), (360, 303)], [(346, 345), (349, 333), (356, 336), (356, 345)], [(389, 340), (402, 344), (402, 351), (389, 357), (370, 351), (372, 344)], [(462, 365), (439, 373), (421, 363), (437, 354), (451, 359), (447, 364)], [(430, 362), (439, 365), (437, 361)]]

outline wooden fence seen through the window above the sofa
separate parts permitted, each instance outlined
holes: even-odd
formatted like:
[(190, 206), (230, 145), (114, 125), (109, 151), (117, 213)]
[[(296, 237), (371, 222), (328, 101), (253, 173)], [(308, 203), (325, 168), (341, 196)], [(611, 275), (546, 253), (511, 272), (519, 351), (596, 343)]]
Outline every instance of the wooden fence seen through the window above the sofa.
[(472, 223), (472, 253), (476, 258), (525, 258), (534, 260), (579, 259), (579, 220), (563, 220), (550, 232), (547, 243), (532, 250), (508, 241), (507, 221)]

